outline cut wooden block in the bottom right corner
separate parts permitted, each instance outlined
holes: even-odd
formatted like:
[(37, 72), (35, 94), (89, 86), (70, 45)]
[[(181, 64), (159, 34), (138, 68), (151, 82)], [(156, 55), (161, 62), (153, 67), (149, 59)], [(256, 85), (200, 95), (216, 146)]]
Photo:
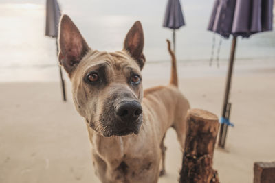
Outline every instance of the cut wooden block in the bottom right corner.
[(254, 163), (254, 183), (274, 183), (275, 162)]

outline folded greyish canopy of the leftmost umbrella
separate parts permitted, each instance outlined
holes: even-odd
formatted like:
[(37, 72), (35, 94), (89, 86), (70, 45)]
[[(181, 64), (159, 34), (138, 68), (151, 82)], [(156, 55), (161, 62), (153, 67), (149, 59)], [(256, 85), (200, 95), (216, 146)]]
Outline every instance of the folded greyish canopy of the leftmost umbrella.
[(61, 10), (56, 0), (47, 0), (46, 7), (46, 36), (58, 36), (58, 23), (61, 19)]

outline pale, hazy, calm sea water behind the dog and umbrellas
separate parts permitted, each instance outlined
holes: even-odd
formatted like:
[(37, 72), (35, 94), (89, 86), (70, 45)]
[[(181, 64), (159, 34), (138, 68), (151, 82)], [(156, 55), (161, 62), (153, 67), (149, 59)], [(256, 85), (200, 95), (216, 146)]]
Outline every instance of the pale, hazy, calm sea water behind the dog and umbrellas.
[[(71, 16), (92, 49), (121, 50), (124, 36), (137, 20), (145, 36), (148, 77), (166, 69), (170, 56), (166, 38), (172, 31), (162, 27), (165, 0), (60, 0), (64, 14)], [(186, 26), (176, 32), (176, 55), (182, 77), (225, 75), (231, 38), (207, 31), (213, 0), (181, 0)], [(56, 40), (45, 36), (45, 1), (0, 1), (0, 82), (57, 81)], [(209, 69), (213, 38), (214, 61)], [(221, 49), (218, 54), (219, 42)], [(221, 66), (217, 68), (217, 57)], [(236, 62), (245, 71), (275, 68), (275, 32), (239, 38)], [(155, 69), (155, 71), (152, 71)], [(240, 73), (244, 70), (237, 70)], [(170, 69), (167, 70), (169, 72)], [(272, 70), (273, 71), (273, 70)]]

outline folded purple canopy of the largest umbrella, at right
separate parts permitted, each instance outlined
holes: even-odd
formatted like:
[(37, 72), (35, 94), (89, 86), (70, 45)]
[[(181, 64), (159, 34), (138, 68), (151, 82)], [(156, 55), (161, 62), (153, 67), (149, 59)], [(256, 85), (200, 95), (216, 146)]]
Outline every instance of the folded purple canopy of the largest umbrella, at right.
[(228, 38), (272, 30), (273, 0), (216, 0), (208, 30)]

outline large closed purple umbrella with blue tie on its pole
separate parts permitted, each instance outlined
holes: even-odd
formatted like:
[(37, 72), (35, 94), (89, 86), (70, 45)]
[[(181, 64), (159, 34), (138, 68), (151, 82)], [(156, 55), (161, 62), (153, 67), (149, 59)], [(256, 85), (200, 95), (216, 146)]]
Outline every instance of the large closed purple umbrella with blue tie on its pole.
[(228, 125), (232, 125), (229, 121), (231, 103), (228, 103), (228, 97), (237, 37), (249, 38), (252, 34), (272, 30), (272, 7), (273, 0), (215, 0), (214, 2), (208, 30), (224, 38), (229, 38), (230, 35), (233, 37), (220, 120), (219, 147), (224, 148)]

